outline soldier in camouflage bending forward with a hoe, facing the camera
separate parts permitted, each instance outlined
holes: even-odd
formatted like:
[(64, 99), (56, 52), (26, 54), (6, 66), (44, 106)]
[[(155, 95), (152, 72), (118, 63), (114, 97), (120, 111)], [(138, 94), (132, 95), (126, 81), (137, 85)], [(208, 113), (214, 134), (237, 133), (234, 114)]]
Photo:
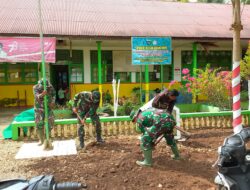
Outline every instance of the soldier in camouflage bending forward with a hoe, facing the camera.
[(78, 136), (80, 141), (80, 147), (78, 149), (84, 148), (84, 124), (87, 117), (90, 117), (93, 125), (96, 128), (96, 140), (99, 143), (103, 143), (101, 136), (101, 122), (96, 111), (100, 103), (100, 92), (93, 91), (87, 92), (83, 91), (75, 95), (73, 112), (76, 113), (80, 118), (78, 118)]

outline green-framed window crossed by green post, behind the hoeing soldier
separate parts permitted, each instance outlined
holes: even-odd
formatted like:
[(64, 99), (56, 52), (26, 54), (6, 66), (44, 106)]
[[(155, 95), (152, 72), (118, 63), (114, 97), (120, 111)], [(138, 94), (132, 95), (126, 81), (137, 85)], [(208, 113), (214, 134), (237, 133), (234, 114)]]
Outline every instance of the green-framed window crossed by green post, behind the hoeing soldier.
[[(113, 80), (113, 56), (112, 51), (102, 51), (102, 82)], [(97, 51), (90, 51), (91, 60), (91, 82), (98, 83), (98, 57)]]

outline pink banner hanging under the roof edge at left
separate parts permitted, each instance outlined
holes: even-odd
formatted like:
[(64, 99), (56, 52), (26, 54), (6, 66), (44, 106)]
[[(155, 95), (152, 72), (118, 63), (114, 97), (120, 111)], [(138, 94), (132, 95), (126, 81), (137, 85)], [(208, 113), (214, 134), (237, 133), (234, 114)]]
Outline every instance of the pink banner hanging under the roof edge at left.
[[(56, 38), (44, 38), (45, 62), (55, 63)], [(40, 38), (0, 37), (0, 62), (42, 62)]]

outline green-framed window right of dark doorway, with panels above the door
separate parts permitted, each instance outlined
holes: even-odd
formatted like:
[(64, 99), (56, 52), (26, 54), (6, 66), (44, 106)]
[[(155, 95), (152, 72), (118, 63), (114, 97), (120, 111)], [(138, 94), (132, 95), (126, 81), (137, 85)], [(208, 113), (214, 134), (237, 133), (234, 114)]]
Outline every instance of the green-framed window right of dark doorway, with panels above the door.
[(69, 65), (70, 82), (82, 83), (84, 82), (83, 51), (72, 50), (71, 53), (72, 56), (70, 57), (70, 50), (57, 49), (56, 62)]

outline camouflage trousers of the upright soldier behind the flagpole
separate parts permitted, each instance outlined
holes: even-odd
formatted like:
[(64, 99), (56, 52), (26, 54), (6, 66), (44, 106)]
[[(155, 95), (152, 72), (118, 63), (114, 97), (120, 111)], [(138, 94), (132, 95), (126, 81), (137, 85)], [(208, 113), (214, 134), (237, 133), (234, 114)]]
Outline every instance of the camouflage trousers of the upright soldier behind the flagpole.
[[(54, 126), (55, 117), (54, 113), (51, 109), (48, 110), (48, 126), (49, 130), (51, 130)], [(45, 126), (45, 111), (44, 109), (35, 109), (35, 123), (37, 129), (43, 129)]]

